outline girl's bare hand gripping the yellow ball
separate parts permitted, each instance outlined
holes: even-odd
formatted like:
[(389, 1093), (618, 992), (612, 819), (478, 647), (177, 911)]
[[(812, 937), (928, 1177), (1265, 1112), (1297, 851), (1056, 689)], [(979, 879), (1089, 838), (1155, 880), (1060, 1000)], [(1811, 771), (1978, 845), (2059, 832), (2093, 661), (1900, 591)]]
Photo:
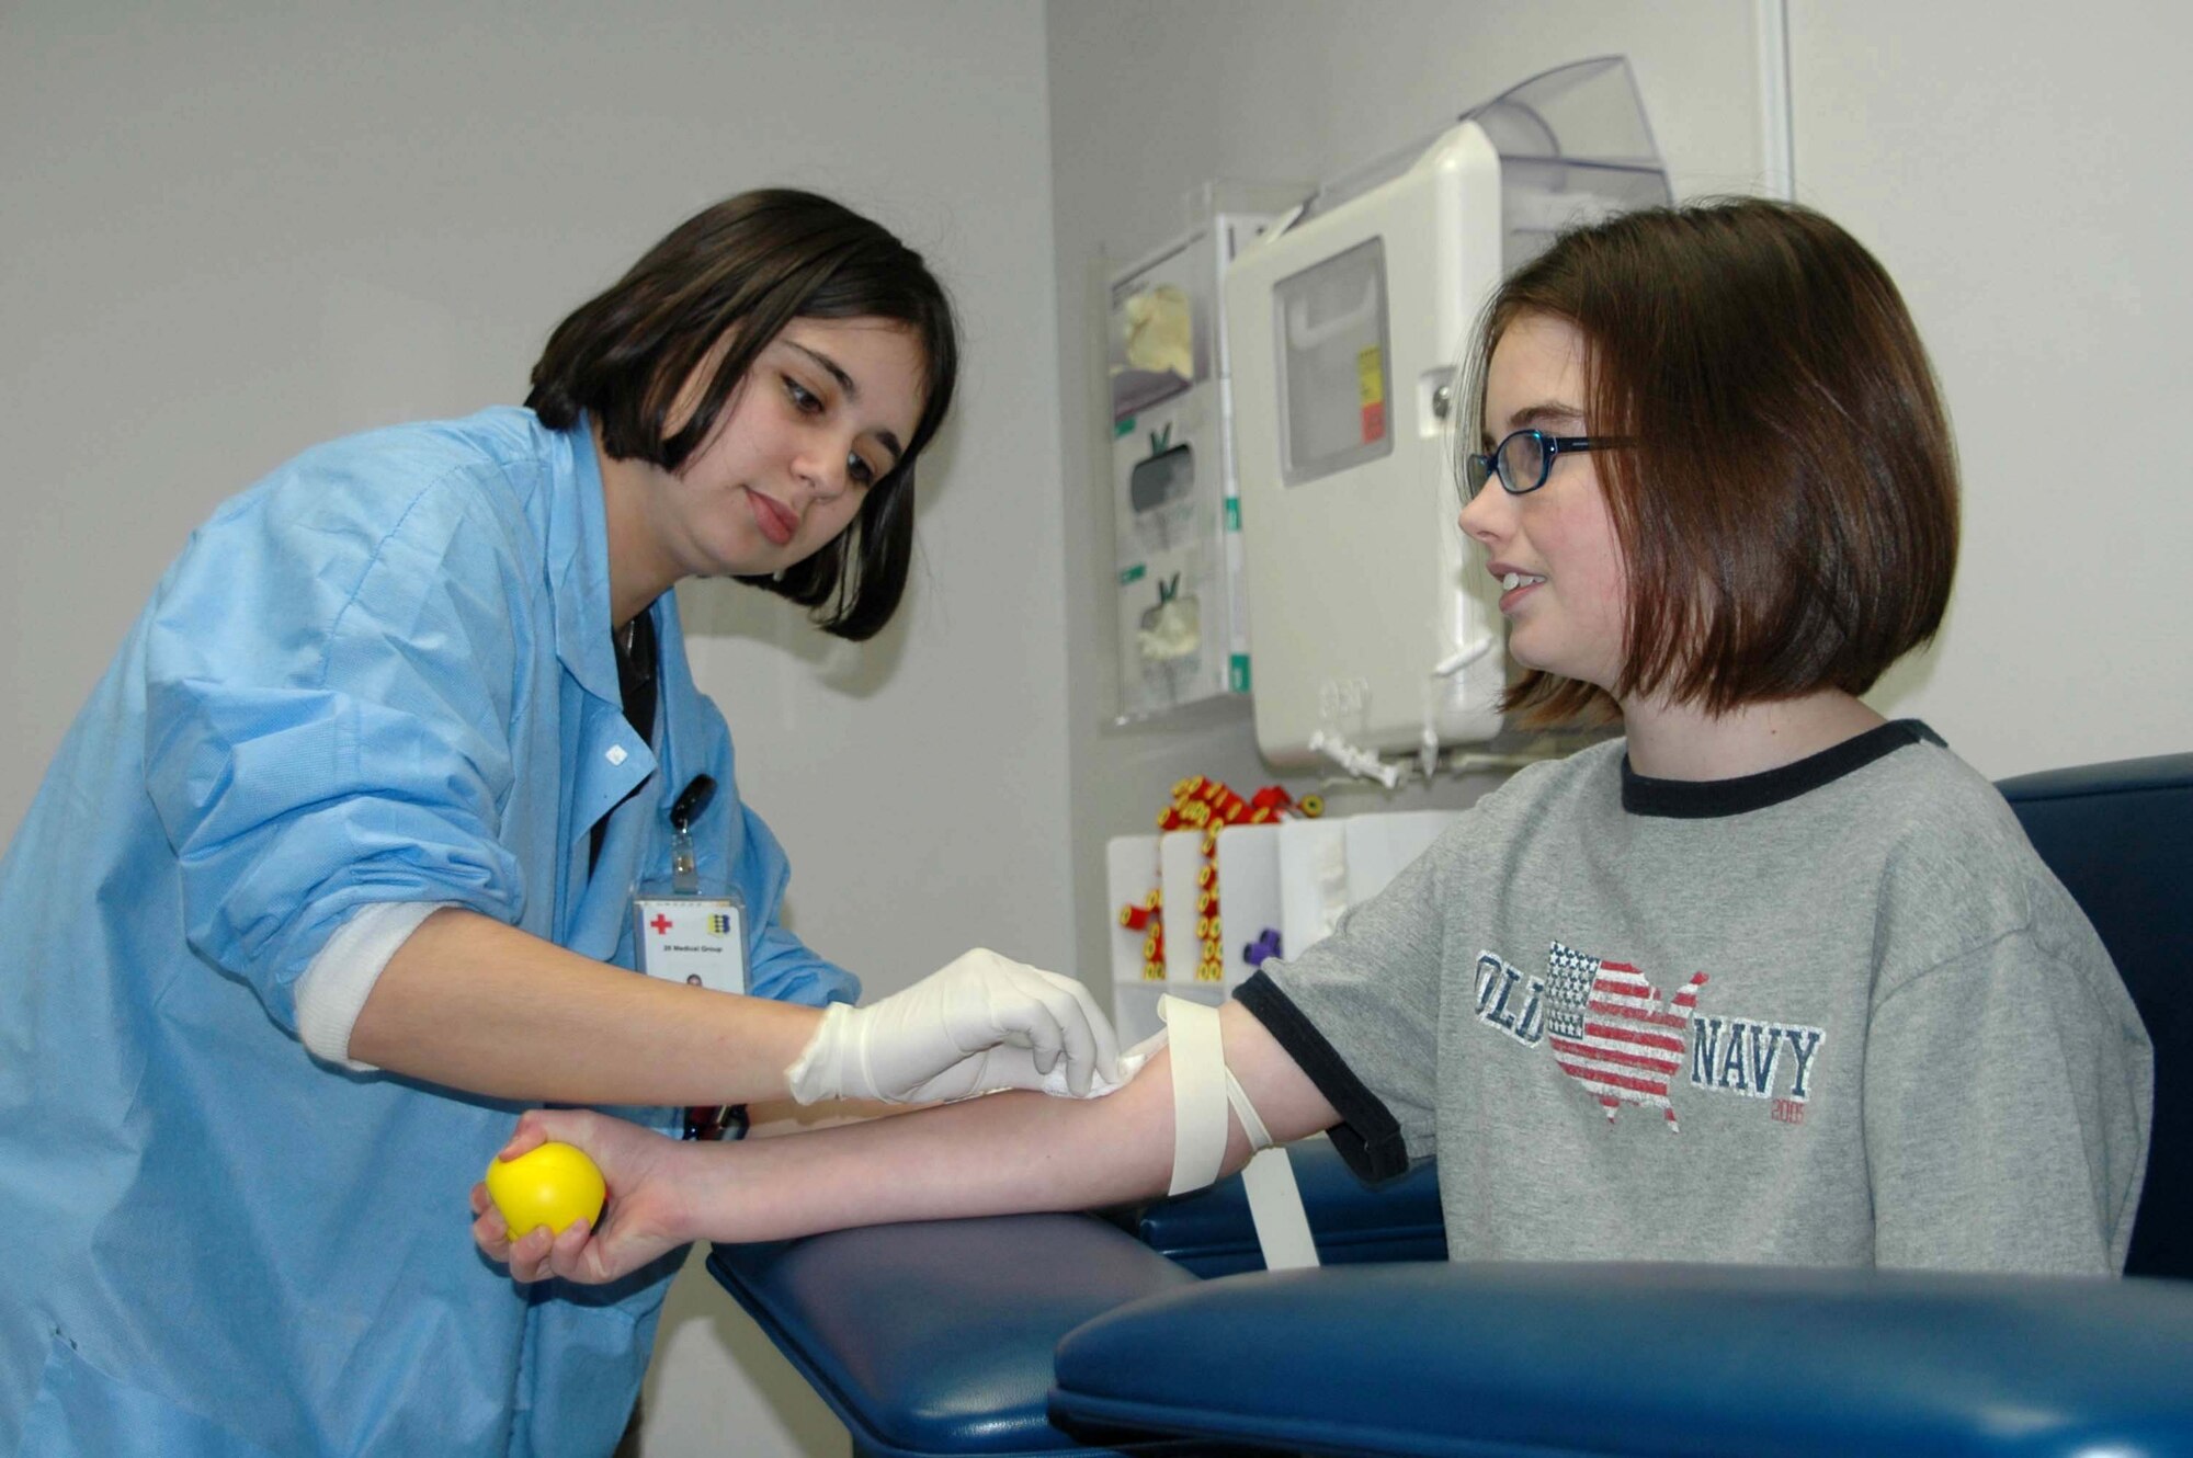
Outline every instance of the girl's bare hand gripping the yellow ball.
[(471, 1239), (489, 1261), (509, 1265), (513, 1280), (561, 1276), (601, 1285), (693, 1239), (684, 1180), (693, 1171), (691, 1153), (697, 1144), (682, 1144), (592, 1109), (529, 1109), (498, 1158), (513, 1160), (546, 1140), (583, 1149), (601, 1166), (610, 1199), (599, 1230), (581, 1219), (559, 1237), (550, 1239), (548, 1228), (539, 1226), (513, 1243), (502, 1212), (487, 1197), (487, 1184), (474, 1184)]

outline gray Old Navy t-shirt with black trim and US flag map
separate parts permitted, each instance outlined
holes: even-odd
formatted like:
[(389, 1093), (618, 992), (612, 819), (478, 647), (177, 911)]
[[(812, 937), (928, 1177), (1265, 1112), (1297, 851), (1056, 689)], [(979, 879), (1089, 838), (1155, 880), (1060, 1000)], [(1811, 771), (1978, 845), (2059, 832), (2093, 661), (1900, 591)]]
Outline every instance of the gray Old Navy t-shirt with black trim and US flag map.
[(1921, 724), (1739, 781), (1623, 743), (1485, 796), (1241, 1002), (1472, 1258), (2116, 1272), (2154, 1052)]

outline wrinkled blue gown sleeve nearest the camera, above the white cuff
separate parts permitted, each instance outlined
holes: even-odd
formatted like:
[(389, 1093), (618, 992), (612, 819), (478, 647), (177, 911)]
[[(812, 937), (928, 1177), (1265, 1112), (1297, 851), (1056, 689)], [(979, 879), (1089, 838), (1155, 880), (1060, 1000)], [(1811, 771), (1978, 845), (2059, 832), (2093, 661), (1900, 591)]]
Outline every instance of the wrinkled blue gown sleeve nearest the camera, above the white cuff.
[(461, 469), (325, 447), (224, 506), (149, 610), (145, 785), (184, 934), (296, 1033), (294, 982), (368, 901), (515, 923), (524, 553)]

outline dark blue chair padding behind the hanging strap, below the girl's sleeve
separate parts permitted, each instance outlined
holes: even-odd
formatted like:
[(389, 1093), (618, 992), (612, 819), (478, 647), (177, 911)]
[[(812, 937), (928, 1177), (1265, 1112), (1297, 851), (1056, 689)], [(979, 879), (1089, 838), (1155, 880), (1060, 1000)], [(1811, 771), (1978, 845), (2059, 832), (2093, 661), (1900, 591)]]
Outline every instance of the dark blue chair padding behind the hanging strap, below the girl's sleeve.
[[(1439, 1169), (1432, 1160), (1397, 1180), (1364, 1184), (1331, 1140), (1287, 1144), (1303, 1210), (1325, 1265), (1360, 1261), (1445, 1261), (1447, 1228), (1439, 1210)], [(1125, 1212), (1125, 1228), (1151, 1250), (1197, 1276), (1261, 1272), (1257, 1228), (1248, 1217), (1241, 1175), (1193, 1195), (1175, 1195)]]

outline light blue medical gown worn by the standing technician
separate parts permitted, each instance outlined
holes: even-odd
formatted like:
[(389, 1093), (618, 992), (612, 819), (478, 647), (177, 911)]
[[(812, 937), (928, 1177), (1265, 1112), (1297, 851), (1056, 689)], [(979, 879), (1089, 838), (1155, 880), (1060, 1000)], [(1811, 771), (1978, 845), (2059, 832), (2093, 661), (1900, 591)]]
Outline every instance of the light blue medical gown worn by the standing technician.
[(614, 1447), (678, 1256), (515, 1287), (465, 1199), (522, 1105), (316, 1061), (294, 991), (373, 901), (632, 967), (629, 888), (713, 774), (752, 989), (857, 993), (776, 925), (783, 851), (654, 614), (647, 745), (592, 445), (526, 410), (336, 441), (193, 535), (0, 864), (0, 1454)]

